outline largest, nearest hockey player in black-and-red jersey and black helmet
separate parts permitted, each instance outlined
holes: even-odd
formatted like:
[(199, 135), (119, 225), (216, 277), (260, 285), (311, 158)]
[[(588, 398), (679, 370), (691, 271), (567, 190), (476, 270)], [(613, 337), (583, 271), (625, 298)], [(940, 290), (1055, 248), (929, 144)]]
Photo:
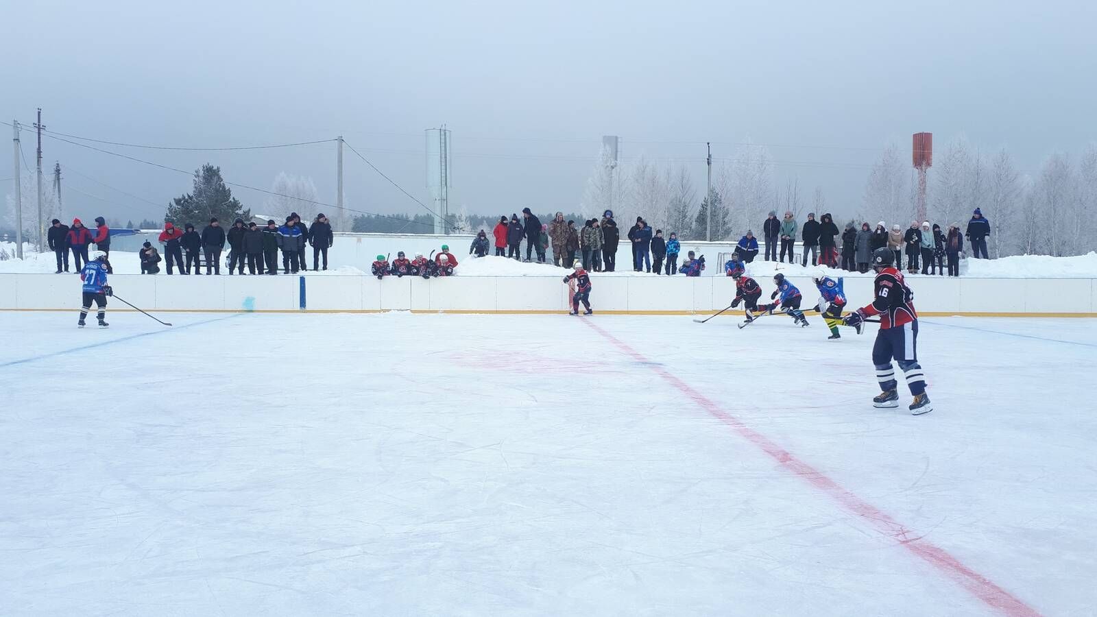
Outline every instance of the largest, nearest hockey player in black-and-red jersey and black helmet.
[(872, 303), (846, 316), (846, 325), (856, 326), (871, 315), (880, 315), (880, 332), (872, 346), (872, 363), (882, 392), (872, 399), (875, 407), (897, 407), (898, 392), (892, 358), (906, 375), (914, 401), (914, 415), (931, 412), (926, 394), (926, 375), (918, 364), (918, 314), (914, 310), (914, 292), (906, 287), (903, 274), (895, 269), (895, 251), (878, 248), (872, 253), (872, 269), (877, 272)]

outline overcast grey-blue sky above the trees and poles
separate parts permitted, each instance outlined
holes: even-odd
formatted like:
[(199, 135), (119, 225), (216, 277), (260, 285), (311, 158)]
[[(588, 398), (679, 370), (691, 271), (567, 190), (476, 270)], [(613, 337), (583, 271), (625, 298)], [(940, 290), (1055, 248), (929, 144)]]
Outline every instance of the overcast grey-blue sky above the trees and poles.
[[(907, 148), (913, 132), (1007, 146), (1029, 171), (1053, 150), (1078, 153), (1097, 125), (1087, 1), (0, 5), (4, 121), (33, 122), (41, 106), (54, 131), (192, 147), (342, 134), (423, 201), (422, 130), (446, 123), (452, 204), (483, 214), (576, 207), (603, 134), (621, 136), (623, 157), (690, 164), (702, 193), (704, 146), (690, 142), (732, 157), (749, 136), (770, 145), (779, 182), (799, 175), (805, 197), (822, 186), (842, 213), (860, 201), (877, 149)], [(33, 165), (33, 134), (23, 139)], [(171, 171), (44, 147), (48, 167), (72, 170), (67, 214), (160, 214), (78, 173), (157, 204), (190, 188)], [(279, 171), (312, 176), (319, 199), (335, 201), (331, 144), (103, 147), (182, 169), (211, 161), (262, 188)], [(11, 148), (0, 148), (0, 178), (11, 170)], [(346, 173), (347, 205), (421, 212), (353, 155)], [(234, 193), (262, 211), (262, 194)]]

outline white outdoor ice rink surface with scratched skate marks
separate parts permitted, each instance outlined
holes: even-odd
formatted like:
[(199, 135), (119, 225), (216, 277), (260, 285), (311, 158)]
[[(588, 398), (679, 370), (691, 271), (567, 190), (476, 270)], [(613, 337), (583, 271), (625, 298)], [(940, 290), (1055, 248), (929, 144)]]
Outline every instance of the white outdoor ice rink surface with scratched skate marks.
[(162, 317), (2, 314), (4, 615), (1097, 610), (1094, 321)]

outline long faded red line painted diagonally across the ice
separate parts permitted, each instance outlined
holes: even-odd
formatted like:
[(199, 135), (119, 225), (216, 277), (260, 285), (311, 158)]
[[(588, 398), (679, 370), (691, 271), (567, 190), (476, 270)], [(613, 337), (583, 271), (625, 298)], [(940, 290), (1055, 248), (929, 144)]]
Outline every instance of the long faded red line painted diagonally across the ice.
[(627, 344), (595, 325), (591, 319), (584, 319), (584, 323), (593, 328), (593, 330), (598, 334), (602, 335), (626, 356), (631, 356), (633, 359), (647, 364), (647, 367), (670, 383), (670, 385), (674, 385), (682, 394), (689, 396), (694, 403), (700, 405), (704, 411), (709, 412), (713, 417), (732, 427), (735, 433), (760, 448), (764, 452), (784, 465), (784, 468), (793, 474), (807, 481), (811, 485), (825, 493), (828, 497), (838, 502), (838, 504), (844, 508), (867, 520), (883, 536), (892, 538), (900, 546), (921, 558), (934, 568), (937, 568), (937, 570), (939, 570), (942, 574), (961, 585), (963, 588), (968, 590), (968, 592), (979, 599), (985, 602), (994, 608), (997, 608), (1005, 615), (1040, 615), (1032, 607), (1028, 606), (1019, 598), (1014, 597), (1014, 595), (994, 584), (994, 582), (986, 576), (983, 576), (979, 572), (975, 572), (971, 568), (964, 565), (963, 562), (949, 554), (949, 552), (945, 549), (925, 540), (921, 536), (907, 529), (901, 523), (881, 512), (877, 506), (866, 502), (861, 497), (858, 497), (847, 489), (842, 487), (841, 484), (838, 484), (829, 476), (825, 475), (823, 472), (792, 456), (788, 450), (782, 449), (765, 435), (743, 424), (743, 420), (720, 408), (719, 405), (713, 403), (703, 394), (693, 390), (691, 385), (669, 373), (663, 367), (653, 363)]

